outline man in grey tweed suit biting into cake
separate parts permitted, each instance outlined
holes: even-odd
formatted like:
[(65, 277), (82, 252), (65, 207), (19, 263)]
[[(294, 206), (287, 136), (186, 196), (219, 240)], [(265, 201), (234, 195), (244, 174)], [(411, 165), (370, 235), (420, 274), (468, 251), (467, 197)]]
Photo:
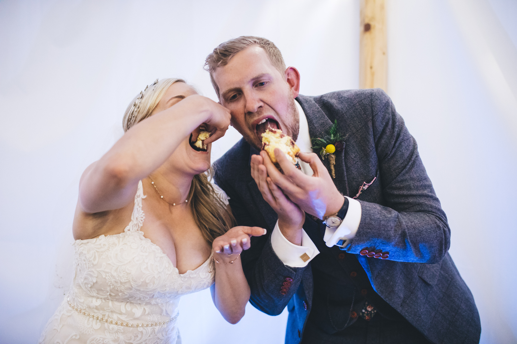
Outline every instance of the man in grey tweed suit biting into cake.
[[(268, 230), (241, 256), (250, 302), (269, 315), (287, 306), (285, 342), (479, 342), (474, 299), (447, 253), (447, 218), (389, 97), (299, 95), (298, 71), (259, 37), (220, 44), (205, 68), (244, 136), (215, 163), (216, 183), (239, 225)], [(260, 152), (268, 127), (296, 141), (299, 169), (277, 150), (280, 173)], [(316, 155), (315, 138), (332, 146)], [(300, 208), (305, 219), (286, 225)]]

